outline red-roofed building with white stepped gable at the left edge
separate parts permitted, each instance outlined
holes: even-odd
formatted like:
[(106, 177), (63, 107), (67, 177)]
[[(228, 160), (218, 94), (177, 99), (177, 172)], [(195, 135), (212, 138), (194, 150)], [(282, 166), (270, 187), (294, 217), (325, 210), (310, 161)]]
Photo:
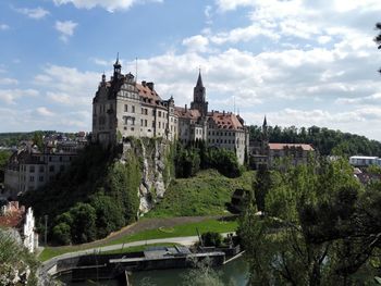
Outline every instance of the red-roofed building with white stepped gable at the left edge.
[(19, 232), (23, 245), (34, 252), (38, 248), (38, 234), (35, 229), (35, 217), (32, 208), (19, 207), (19, 201), (10, 201), (0, 211), (0, 226)]

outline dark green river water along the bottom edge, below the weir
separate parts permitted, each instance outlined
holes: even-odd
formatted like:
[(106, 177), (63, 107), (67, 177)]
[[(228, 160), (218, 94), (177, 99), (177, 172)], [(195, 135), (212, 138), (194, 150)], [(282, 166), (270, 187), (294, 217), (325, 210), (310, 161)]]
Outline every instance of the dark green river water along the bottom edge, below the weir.
[[(225, 282), (226, 285), (244, 286), (247, 282), (248, 266), (243, 258), (238, 258), (226, 265), (216, 269), (220, 275), (221, 279)], [(188, 269), (181, 270), (152, 270), (152, 271), (140, 271), (134, 272), (131, 276), (131, 284), (133, 286), (179, 286), (184, 279), (183, 277), (189, 273)], [(84, 283), (70, 283), (69, 276), (63, 276), (62, 281), (69, 286), (118, 286), (114, 281), (101, 281), (99, 284), (95, 282), (84, 282)], [(232, 283), (232, 284), (231, 284)]]

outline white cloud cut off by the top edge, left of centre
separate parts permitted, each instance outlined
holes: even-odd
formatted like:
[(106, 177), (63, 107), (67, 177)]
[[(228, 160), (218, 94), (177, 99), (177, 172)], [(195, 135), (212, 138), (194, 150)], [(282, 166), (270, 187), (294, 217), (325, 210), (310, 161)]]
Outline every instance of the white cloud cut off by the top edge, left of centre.
[(145, 2), (162, 2), (162, 0), (53, 0), (57, 5), (72, 3), (78, 9), (93, 9), (95, 7), (101, 7), (109, 12), (116, 10), (127, 10), (134, 4)]

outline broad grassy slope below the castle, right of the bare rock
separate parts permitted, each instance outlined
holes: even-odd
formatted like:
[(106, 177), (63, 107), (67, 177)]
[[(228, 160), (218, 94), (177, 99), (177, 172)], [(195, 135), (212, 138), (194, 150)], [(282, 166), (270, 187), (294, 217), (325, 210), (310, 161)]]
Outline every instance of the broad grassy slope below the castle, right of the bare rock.
[(214, 215), (226, 213), (236, 188), (251, 188), (254, 172), (228, 178), (214, 170), (201, 171), (192, 178), (174, 179), (164, 198), (146, 214), (147, 217)]

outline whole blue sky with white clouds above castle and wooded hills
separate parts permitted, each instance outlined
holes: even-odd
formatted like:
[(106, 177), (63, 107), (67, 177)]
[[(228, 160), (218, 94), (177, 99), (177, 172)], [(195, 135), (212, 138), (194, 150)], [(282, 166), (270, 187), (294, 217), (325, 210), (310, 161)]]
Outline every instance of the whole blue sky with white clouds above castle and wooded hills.
[(381, 140), (380, 15), (380, 0), (2, 0), (0, 132), (89, 132), (119, 53), (176, 105), (200, 69), (210, 110)]

